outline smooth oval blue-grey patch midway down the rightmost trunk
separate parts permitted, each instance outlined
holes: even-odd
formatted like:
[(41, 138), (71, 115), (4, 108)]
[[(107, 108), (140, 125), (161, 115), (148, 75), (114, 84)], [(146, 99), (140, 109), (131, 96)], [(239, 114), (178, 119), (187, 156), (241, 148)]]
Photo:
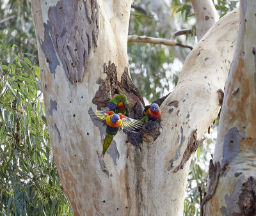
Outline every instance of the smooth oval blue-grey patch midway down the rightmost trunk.
[(239, 134), (237, 127), (230, 128), (224, 138), (223, 158), (221, 160), (222, 167), (230, 164), (240, 152), (240, 141), (241, 135)]

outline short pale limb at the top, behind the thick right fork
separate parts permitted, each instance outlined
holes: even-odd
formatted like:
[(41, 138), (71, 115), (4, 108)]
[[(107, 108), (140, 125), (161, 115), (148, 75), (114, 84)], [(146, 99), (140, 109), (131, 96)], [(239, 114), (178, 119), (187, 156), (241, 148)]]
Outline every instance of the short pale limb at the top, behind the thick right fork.
[(212, 0), (190, 0), (196, 14), (196, 37), (200, 41), (209, 28), (218, 20)]

